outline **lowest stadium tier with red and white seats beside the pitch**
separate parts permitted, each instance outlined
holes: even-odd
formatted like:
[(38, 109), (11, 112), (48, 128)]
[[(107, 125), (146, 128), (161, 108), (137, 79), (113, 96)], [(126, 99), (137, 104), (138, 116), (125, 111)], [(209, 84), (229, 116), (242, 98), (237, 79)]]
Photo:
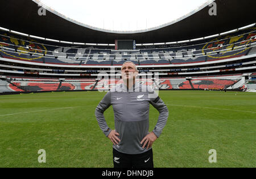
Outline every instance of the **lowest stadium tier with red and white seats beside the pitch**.
[[(1, 77), (1, 76), (0, 76)], [(242, 74), (230, 76), (201, 76), (187, 78), (140, 78), (137, 81), (159, 90), (224, 90), (241, 88), (246, 84)], [(241, 83), (242, 82), (242, 83)], [(6, 76), (0, 80), (2, 92), (35, 92), (35, 91), (107, 91), (117, 84), (118, 79), (58, 79), (58, 78), (21, 78)]]

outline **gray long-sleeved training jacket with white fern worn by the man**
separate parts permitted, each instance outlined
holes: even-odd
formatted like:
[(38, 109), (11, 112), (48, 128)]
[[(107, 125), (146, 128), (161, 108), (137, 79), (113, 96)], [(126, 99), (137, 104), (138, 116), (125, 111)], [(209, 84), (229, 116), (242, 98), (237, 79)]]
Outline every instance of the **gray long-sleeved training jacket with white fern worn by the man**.
[(153, 130), (156, 137), (162, 133), (168, 119), (168, 108), (163, 100), (150, 86), (136, 82), (133, 88), (127, 90), (123, 84), (112, 88), (98, 104), (95, 116), (103, 133), (108, 137), (109, 129), (104, 112), (113, 106), (115, 131), (121, 141), (113, 148), (124, 154), (142, 154), (148, 150), (142, 148), (141, 140), (148, 134), (150, 104), (159, 111), (159, 118)]

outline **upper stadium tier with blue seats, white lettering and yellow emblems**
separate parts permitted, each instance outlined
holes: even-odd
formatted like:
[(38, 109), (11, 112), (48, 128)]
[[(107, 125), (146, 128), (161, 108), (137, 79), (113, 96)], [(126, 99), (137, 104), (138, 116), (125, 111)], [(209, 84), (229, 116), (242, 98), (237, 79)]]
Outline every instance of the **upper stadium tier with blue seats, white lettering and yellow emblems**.
[(61, 65), (170, 65), (210, 62), (255, 54), (256, 27), (228, 35), (177, 44), (142, 45), (137, 50), (114, 50), (114, 46), (88, 46), (50, 42), (0, 32), (3, 58)]

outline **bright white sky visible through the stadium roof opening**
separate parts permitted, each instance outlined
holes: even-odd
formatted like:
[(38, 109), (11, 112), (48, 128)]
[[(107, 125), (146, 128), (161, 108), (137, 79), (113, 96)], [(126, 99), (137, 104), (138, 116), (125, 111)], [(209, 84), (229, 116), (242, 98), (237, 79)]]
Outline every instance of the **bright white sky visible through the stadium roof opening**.
[(115, 31), (157, 27), (189, 14), (208, 0), (40, 0), (78, 22)]

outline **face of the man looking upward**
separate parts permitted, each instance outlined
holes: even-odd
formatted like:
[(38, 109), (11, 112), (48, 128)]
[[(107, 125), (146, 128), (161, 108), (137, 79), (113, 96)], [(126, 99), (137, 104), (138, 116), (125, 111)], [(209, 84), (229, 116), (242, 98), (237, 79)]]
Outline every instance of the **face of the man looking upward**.
[(121, 75), (123, 80), (133, 80), (137, 74), (138, 72), (136, 71), (133, 63), (125, 63), (121, 67)]

